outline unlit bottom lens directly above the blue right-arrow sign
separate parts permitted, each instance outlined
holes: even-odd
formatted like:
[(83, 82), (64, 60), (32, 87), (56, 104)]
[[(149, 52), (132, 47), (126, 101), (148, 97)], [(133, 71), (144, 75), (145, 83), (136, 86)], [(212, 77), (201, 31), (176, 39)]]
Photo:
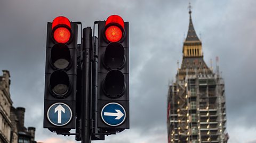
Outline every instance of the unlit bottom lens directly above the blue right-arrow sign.
[(103, 82), (103, 90), (109, 98), (119, 98), (125, 90), (124, 74), (119, 70), (111, 70)]

